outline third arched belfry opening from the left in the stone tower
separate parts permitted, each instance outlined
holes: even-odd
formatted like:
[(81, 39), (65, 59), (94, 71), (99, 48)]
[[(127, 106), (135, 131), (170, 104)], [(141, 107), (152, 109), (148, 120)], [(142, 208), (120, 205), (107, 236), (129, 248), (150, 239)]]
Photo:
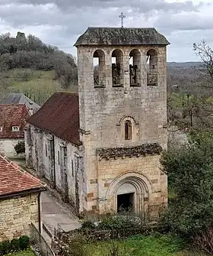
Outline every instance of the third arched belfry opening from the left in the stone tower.
[(141, 53), (131, 50), (129, 53), (129, 83), (130, 86), (140, 86), (141, 79)]

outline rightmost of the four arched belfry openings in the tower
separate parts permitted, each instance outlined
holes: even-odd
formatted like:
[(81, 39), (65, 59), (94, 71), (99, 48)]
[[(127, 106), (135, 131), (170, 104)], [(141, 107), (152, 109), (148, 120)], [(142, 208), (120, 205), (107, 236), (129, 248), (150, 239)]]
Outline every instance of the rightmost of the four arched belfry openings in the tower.
[(153, 49), (147, 53), (147, 75), (147, 85), (157, 86), (157, 52)]

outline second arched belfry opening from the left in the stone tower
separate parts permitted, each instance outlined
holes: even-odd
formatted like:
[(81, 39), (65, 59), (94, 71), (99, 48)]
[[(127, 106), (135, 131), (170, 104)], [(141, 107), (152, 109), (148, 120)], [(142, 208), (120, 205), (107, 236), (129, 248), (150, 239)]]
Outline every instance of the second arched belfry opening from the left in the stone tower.
[(112, 53), (112, 83), (113, 86), (123, 86), (123, 54), (118, 49)]

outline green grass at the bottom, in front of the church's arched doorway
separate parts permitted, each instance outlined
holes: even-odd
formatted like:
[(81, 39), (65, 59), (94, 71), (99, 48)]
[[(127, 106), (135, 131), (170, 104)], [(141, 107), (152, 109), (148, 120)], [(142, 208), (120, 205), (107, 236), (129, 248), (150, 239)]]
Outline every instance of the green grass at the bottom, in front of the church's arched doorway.
[[(119, 253), (123, 256), (204, 256), (205, 254), (196, 254), (195, 251), (183, 251), (181, 241), (164, 236), (137, 236), (122, 241), (117, 241)], [(87, 248), (88, 256), (105, 256), (108, 255), (112, 242), (98, 242)]]

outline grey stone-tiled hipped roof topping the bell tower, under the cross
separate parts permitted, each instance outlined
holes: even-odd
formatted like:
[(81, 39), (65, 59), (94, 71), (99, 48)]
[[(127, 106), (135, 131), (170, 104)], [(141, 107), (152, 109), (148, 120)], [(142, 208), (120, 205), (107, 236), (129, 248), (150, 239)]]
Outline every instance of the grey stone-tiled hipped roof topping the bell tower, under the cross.
[(167, 38), (155, 28), (87, 28), (78, 37), (80, 45), (168, 45)]

